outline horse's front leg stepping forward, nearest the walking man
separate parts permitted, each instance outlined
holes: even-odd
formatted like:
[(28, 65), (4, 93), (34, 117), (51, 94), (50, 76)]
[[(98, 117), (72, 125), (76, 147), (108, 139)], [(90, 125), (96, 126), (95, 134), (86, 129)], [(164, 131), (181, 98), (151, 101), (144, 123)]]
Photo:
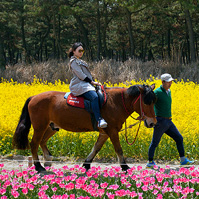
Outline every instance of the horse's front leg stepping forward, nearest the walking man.
[(112, 131), (109, 133), (109, 136), (114, 146), (122, 170), (127, 171), (130, 167), (126, 164), (126, 161), (124, 159), (123, 150), (120, 144), (118, 132)]

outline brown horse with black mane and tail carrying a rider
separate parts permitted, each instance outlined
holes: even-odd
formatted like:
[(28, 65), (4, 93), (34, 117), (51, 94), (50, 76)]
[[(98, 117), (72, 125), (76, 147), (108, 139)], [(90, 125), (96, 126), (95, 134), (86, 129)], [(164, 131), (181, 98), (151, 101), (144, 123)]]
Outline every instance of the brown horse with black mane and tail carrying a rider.
[[(108, 127), (99, 129), (97, 142), (83, 164), (87, 170), (108, 138), (114, 146), (122, 169), (127, 170), (129, 168), (123, 157), (118, 132), (134, 111), (144, 120), (146, 127), (153, 127), (156, 124), (154, 87), (154, 85), (134, 85), (129, 88), (106, 88), (108, 99), (101, 109), (101, 114), (107, 121)], [(30, 148), (35, 169), (38, 172), (45, 171), (37, 154), (39, 145), (43, 150), (45, 161), (49, 163), (49, 160), (52, 160), (52, 155), (46, 145), (48, 139), (56, 133), (56, 130), (49, 126), (51, 122), (67, 131), (86, 132), (94, 130), (90, 113), (84, 109), (67, 105), (64, 95), (64, 92), (44, 92), (28, 98), (23, 107), (13, 137), (13, 146), (23, 150), (29, 148), (28, 134), (32, 124), (34, 134)], [(44, 166), (50, 165), (44, 164)]]

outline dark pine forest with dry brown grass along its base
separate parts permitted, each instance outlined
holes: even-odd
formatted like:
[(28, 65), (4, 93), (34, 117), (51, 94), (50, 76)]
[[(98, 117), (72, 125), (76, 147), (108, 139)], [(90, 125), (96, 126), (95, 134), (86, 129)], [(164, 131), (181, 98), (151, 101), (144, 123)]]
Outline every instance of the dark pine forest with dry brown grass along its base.
[(1, 0), (0, 76), (70, 80), (76, 41), (101, 82), (158, 77), (197, 81), (197, 0)]

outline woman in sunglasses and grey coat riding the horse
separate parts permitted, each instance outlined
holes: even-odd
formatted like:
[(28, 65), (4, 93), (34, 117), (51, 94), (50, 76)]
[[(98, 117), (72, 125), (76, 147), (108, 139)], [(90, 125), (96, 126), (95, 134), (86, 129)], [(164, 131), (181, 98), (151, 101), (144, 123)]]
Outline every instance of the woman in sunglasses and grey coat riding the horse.
[(94, 86), (101, 86), (100, 83), (93, 81), (88, 69), (88, 64), (81, 60), (84, 49), (81, 42), (74, 43), (69, 50), (70, 68), (73, 78), (70, 82), (70, 91), (74, 96), (82, 96), (91, 102), (97, 126), (106, 128), (107, 122), (102, 118), (99, 108), (99, 99)]

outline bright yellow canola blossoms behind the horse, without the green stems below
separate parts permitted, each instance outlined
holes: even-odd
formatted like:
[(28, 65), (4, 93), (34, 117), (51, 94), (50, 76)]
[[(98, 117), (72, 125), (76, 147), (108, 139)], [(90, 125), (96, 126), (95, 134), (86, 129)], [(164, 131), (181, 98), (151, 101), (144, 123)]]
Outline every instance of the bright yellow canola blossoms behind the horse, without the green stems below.
[[(148, 84), (151, 85), (155, 83), (156, 88), (158, 88), (161, 85), (161, 81), (150, 77), (150, 79), (143, 81), (134, 81), (131, 82), (124, 82), (119, 84), (111, 85), (110, 83), (105, 85), (107, 87), (129, 87), (131, 85), (135, 84)], [(10, 82), (6, 80), (2, 80), (2, 83), (0, 83), (0, 134), (3, 139), (1, 140), (1, 143), (6, 142), (6, 137), (12, 137), (16, 126), (18, 124), (19, 117), (21, 115), (22, 108), (24, 106), (24, 103), (26, 99), (30, 96), (37, 95), (42, 92), (46, 91), (63, 91), (63, 92), (69, 92), (69, 84), (65, 84), (61, 82), (60, 80), (53, 83), (48, 82), (42, 82), (38, 79), (34, 79), (33, 83), (31, 84), (19, 84), (17, 82), (14, 82), (11, 80)], [(171, 86), (171, 92), (172, 92), (172, 118), (173, 122), (179, 129), (179, 131), (182, 133), (184, 137), (184, 144), (185, 146), (192, 146), (196, 145), (196, 141), (199, 140), (199, 127), (198, 127), (198, 121), (199, 121), (199, 85), (197, 83), (188, 81), (184, 82), (177, 81), (173, 82)], [(133, 113), (132, 116), (137, 117), (137, 113)], [(133, 124), (136, 121), (129, 117), (127, 119), (127, 125)], [(124, 128), (124, 126), (123, 126)], [(128, 139), (129, 141), (133, 141), (136, 132), (137, 132), (138, 125), (134, 126), (132, 129), (128, 129)], [(32, 135), (33, 130), (31, 129), (30, 136)], [(133, 147), (138, 147), (138, 152), (142, 147), (145, 147), (145, 155), (147, 155), (148, 146), (150, 144), (151, 138), (152, 138), (153, 129), (152, 128), (146, 128), (142, 122), (139, 135), (136, 140), (136, 143)], [(90, 144), (91, 141), (95, 138), (97, 139), (98, 132), (88, 132), (88, 133), (78, 133), (76, 136), (74, 136), (74, 133), (67, 132), (64, 130), (60, 130), (58, 132), (58, 137), (60, 140), (64, 139), (65, 136), (68, 137), (78, 137), (78, 139), (81, 139), (81, 143), (86, 145)], [(123, 142), (125, 140), (124, 133), (120, 133), (120, 137), (122, 138)], [(164, 148), (167, 145), (171, 147), (172, 140), (168, 136), (164, 136), (165, 141), (164, 145), (161, 146)], [(72, 138), (71, 138), (72, 140)], [(110, 140), (108, 140), (108, 143), (110, 143)], [(0, 144), (1, 145), (1, 144)], [(127, 146), (124, 148), (126, 143), (122, 144), (124, 151), (128, 151), (130, 153), (130, 150), (132, 148), (129, 148)], [(172, 147), (175, 144), (172, 144)], [(171, 148), (172, 148), (171, 147)], [(167, 150), (167, 149), (165, 149)], [(176, 150), (176, 148), (174, 149)], [(189, 150), (189, 149), (188, 149)], [(190, 149), (191, 150), (191, 149)], [(141, 153), (141, 152), (139, 152)], [(139, 156), (139, 154), (137, 154)], [(142, 156), (143, 154), (140, 154)], [(199, 152), (197, 151), (197, 157), (199, 157)]]

